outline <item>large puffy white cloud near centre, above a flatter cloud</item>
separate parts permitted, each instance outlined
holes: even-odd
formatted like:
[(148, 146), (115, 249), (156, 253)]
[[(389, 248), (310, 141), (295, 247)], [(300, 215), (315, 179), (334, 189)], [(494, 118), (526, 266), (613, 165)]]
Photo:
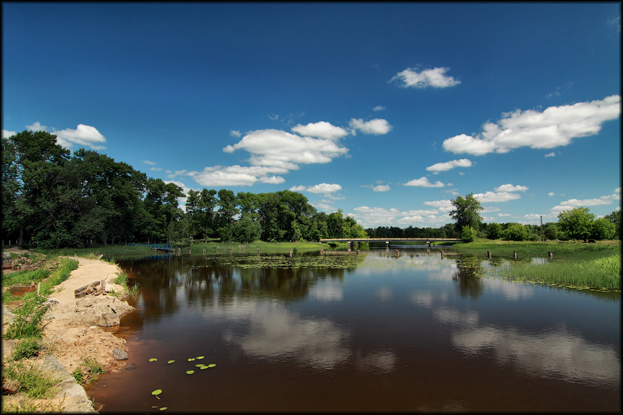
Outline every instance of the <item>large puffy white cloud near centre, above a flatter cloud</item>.
[(298, 169), (298, 164), (329, 163), (333, 158), (346, 154), (348, 149), (333, 140), (301, 137), (276, 129), (249, 131), (235, 145), (223, 149), (233, 152), (244, 149), (251, 153), (252, 165), (278, 166)]

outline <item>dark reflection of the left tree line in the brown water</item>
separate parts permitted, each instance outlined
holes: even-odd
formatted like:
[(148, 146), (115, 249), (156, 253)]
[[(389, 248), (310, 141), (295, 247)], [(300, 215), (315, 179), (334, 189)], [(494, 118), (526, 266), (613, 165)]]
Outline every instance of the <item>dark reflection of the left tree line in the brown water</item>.
[[(198, 305), (214, 308), (233, 304), (240, 299), (270, 298), (285, 302), (297, 301), (309, 295), (309, 289), (323, 279), (342, 281), (348, 268), (308, 266), (300, 268), (241, 267), (249, 266), (252, 257), (177, 256), (120, 261), (126, 270), (129, 286), (139, 284), (138, 297), (132, 301), (140, 313), (128, 321), (142, 326), (144, 321), (173, 315), (184, 306)], [(292, 264), (298, 259), (287, 259)], [(303, 260), (318, 264), (335, 264), (327, 257), (307, 257)], [(348, 255), (343, 261), (350, 268), (363, 257)], [(237, 266), (237, 263), (239, 266)], [(295, 264), (296, 265), (296, 264)]]

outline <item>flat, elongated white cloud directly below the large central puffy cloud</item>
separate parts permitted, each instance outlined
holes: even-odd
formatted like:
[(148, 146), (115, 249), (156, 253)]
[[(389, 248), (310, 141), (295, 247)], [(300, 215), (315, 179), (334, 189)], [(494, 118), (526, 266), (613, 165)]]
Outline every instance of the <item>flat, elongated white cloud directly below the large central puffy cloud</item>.
[(278, 184), (284, 183), (285, 179), (281, 176), (275, 176), (275, 174), (285, 174), (289, 170), (281, 167), (262, 167), (251, 166), (242, 167), (239, 165), (234, 166), (214, 166), (206, 167), (201, 172), (175, 172), (170, 177), (177, 174), (186, 174), (193, 179), (199, 185), (206, 187), (213, 186), (251, 186), (255, 183), (269, 183)]

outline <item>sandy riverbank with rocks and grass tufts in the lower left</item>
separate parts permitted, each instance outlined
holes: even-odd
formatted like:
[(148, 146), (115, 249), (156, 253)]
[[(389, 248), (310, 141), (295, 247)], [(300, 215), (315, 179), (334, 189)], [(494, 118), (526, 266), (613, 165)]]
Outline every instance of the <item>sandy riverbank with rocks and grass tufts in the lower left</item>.
[[(22, 339), (6, 340), (4, 334), (17, 316), (21, 306), (19, 300), (3, 304), (3, 396), (2, 412), (96, 412), (96, 403), (91, 402), (84, 387), (75, 378), (92, 365), (104, 371), (116, 371), (125, 366), (123, 360), (116, 360), (113, 351), (127, 352), (125, 340), (117, 338), (112, 331), (102, 329), (102, 315), (113, 311), (118, 316), (132, 310), (126, 302), (114, 295), (87, 296), (76, 299), (74, 291), (95, 281), (105, 281), (109, 293), (123, 297), (125, 288), (114, 284), (122, 272), (115, 264), (100, 259), (75, 257), (78, 268), (69, 277), (53, 287), (48, 302), (53, 303), (42, 317), (41, 349), (36, 356), (15, 358), (15, 351)], [(22, 301), (21, 303), (24, 303)], [(114, 329), (114, 326), (113, 326)], [(107, 329), (108, 330), (108, 329)], [(16, 370), (17, 369), (17, 370)], [(33, 398), (28, 387), (20, 386), (24, 379), (12, 379), (7, 372), (28, 373), (37, 379), (53, 379), (53, 382), (39, 382), (45, 391)], [(17, 377), (17, 376), (16, 376)], [(30, 389), (37, 385), (31, 385)], [(39, 385), (40, 386), (40, 385)], [(38, 386), (37, 386), (38, 387)]]

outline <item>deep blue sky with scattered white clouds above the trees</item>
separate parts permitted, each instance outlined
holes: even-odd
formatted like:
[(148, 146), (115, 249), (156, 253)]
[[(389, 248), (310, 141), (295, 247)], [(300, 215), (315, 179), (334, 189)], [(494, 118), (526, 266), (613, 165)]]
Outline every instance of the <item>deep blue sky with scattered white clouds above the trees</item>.
[[(620, 209), (621, 4), (2, 3), (3, 136), (364, 228)], [(183, 205), (183, 200), (181, 201)]]

